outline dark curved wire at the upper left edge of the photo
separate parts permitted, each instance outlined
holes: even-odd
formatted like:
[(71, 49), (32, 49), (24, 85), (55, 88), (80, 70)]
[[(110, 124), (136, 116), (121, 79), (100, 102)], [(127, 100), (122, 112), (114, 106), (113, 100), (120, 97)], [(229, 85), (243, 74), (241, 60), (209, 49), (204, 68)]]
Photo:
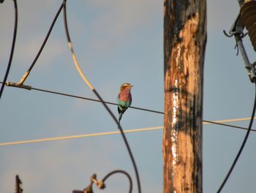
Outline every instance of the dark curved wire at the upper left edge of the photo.
[(18, 6), (17, 6), (17, 1), (16, 0), (13, 0), (13, 2), (14, 2), (14, 8), (15, 8), (15, 25), (14, 25), (13, 38), (12, 38), (12, 48), (11, 48), (9, 63), (8, 63), (8, 66), (7, 66), (7, 71), (5, 72), (5, 75), (4, 75), (4, 80), (3, 80), (4, 83), (1, 85), (0, 99), (1, 99), (1, 94), (4, 91), (4, 86), (5, 86), (5, 83), (7, 82), (7, 77), (9, 75), (9, 72), (10, 72), (10, 69), (11, 69), (12, 56), (13, 56), (13, 53), (14, 53), (15, 42), (16, 42), (16, 34), (17, 34), (17, 26), (18, 26)]

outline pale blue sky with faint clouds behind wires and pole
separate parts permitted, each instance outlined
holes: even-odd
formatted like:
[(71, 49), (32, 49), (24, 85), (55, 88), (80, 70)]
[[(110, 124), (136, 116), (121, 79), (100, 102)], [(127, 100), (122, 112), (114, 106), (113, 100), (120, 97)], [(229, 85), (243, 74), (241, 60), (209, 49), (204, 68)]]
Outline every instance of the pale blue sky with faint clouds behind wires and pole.
[[(29, 69), (61, 1), (18, 1), (18, 35), (8, 80), (17, 82)], [(254, 86), (233, 38), (227, 38), (238, 15), (237, 1), (207, 1), (203, 119), (246, 118), (252, 113)], [(163, 1), (67, 1), (69, 32), (81, 69), (105, 101), (116, 102), (121, 83), (132, 88), (132, 106), (164, 110)], [(14, 26), (13, 1), (0, 4), (0, 79), (7, 68)], [(244, 39), (251, 62), (255, 51)], [(26, 85), (96, 99), (72, 63), (59, 16)], [(117, 116), (117, 109), (109, 105)], [(123, 129), (163, 126), (163, 115), (129, 109)], [(241, 121), (238, 126), (248, 126)], [(254, 126), (255, 127), (255, 126)], [(0, 100), (0, 143), (45, 137), (117, 131), (97, 102), (39, 91), (5, 87)], [(127, 134), (138, 165), (143, 192), (163, 191), (162, 129)], [(217, 192), (244, 139), (245, 131), (203, 126), (203, 192)], [(222, 192), (254, 192), (255, 147), (252, 132)], [(14, 192), (20, 175), (24, 192), (72, 192), (89, 184), (93, 173), (103, 178), (126, 170), (137, 192), (135, 173), (121, 135), (85, 137), (45, 143), (0, 146), (0, 192)], [(104, 192), (127, 192), (127, 179), (118, 174)], [(94, 187), (94, 192), (103, 192)]]

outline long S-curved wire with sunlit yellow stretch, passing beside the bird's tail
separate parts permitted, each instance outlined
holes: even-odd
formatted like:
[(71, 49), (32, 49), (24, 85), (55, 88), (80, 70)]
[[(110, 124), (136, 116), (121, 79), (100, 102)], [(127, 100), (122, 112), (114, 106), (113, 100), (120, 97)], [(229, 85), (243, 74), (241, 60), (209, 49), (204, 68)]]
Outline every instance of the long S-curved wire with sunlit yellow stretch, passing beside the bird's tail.
[(133, 167), (134, 167), (134, 170), (135, 170), (135, 175), (136, 175), (136, 178), (137, 178), (137, 183), (138, 183), (138, 192), (140, 193), (141, 192), (141, 189), (140, 189), (140, 177), (139, 177), (139, 173), (138, 173), (138, 169), (137, 169), (137, 165), (135, 163), (135, 159), (132, 155), (132, 151), (131, 149), (129, 148), (129, 143), (127, 141), (127, 138), (125, 137), (124, 135), (124, 132), (123, 132), (123, 129), (121, 128), (121, 125), (118, 124), (118, 120), (116, 118), (116, 116), (114, 116), (114, 114), (112, 113), (112, 111), (110, 110), (110, 108), (108, 107), (108, 105), (105, 104), (105, 102), (103, 101), (102, 97), (98, 94), (98, 92), (94, 89), (94, 87), (91, 85), (91, 83), (89, 82), (89, 80), (86, 78), (86, 76), (83, 74), (82, 70), (80, 69), (79, 67), (79, 64), (78, 64), (78, 60), (75, 56), (75, 51), (73, 50), (72, 48), (72, 42), (71, 42), (71, 39), (70, 39), (70, 36), (69, 36), (69, 29), (68, 29), (68, 26), (67, 26), (67, 8), (66, 8), (66, 1), (67, 0), (63, 0), (63, 6), (64, 6), (64, 28), (65, 28), (65, 32), (66, 32), (66, 36), (67, 36), (67, 41), (68, 41), (68, 45), (69, 45), (69, 48), (71, 50), (71, 53), (72, 53), (72, 58), (73, 58), (73, 61), (75, 63), (75, 67), (78, 69), (78, 72), (80, 74), (80, 76), (83, 78), (84, 82), (87, 84), (87, 86), (89, 86), (89, 88), (91, 89), (91, 91), (94, 92), (94, 94), (97, 96), (97, 98), (102, 102), (102, 105), (105, 107), (105, 109), (108, 111), (108, 113), (110, 114), (110, 116), (113, 118), (113, 120), (116, 122), (118, 128), (120, 129), (120, 132), (121, 132), (121, 136), (123, 137), (123, 140), (124, 140), (124, 143), (125, 145), (127, 146), (127, 151), (129, 153), (129, 156), (132, 160), (132, 164), (133, 164)]

